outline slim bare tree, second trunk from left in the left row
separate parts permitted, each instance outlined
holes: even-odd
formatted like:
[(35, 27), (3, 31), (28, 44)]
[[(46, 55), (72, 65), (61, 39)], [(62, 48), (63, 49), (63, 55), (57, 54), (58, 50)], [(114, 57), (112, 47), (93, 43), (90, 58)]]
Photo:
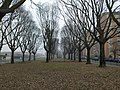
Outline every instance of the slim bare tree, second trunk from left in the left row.
[(29, 13), (27, 11), (25, 11), (23, 8), (20, 9), (19, 11), (21, 13), (21, 20), (23, 22), (22, 24), (22, 34), (21, 34), (21, 38), (19, 40), (19, 45), (20, 45), (20, 49), (22, 52), (22, 61), (24, 62), (24, 56), (25, 56), (25, 52), (27, 51), (27, 46), (28, 46), (28, 39), (27, 39), (27, 34), (29, 32), (29, 28), (31, 26), (31, 17), (29, 16)]

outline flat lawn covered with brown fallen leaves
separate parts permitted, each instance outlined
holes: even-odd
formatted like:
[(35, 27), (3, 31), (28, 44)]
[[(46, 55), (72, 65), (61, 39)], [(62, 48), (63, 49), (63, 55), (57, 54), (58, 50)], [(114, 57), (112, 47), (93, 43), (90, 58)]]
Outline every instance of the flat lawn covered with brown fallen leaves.
[(120, 68), (84, 62), (4, 64), (0, 90), (120, 90)]

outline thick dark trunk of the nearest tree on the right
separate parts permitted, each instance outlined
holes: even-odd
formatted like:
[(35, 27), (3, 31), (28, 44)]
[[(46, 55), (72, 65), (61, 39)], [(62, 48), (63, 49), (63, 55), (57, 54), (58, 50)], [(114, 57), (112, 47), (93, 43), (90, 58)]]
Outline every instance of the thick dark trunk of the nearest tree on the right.
[(104, 43), (100, 43), (100, 64), (99, 67), (105, 67), (105, 50), (104, 50)]

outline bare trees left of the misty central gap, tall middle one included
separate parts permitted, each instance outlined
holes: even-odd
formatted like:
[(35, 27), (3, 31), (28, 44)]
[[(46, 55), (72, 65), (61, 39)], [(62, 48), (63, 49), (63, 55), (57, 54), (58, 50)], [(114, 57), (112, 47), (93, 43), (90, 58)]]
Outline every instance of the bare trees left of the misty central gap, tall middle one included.
[[(20, 2), (11, 0), (8, 5), (7, 1), (1, 1), (1, 4), (6, 4), (6, 7), (10, 5), (14, 7)], [(36, 5), (34, 2), (32, 3)], [(18, 48), (23, 54), (23, 62), (26, 51), (29, 52), (29, 61), (31, 60), (31, 54), (34, 54), (35, 60), (35, 54), (42, 44), (42, 40), (46, 51), (46, 62), (53, 59), (57, 53), (59, 43), (57, 39), (59, 30), (58, 8), (56, 5), (48, 3), (39, 3), (36, 6), (37, 23), (33, 21), (30, 12), (23, 9), (24, 7), (14, 10), (14, 12), (11, 11), (11, 13), (6, 11), (4, 16), (1, 17), (0, 50), (3, 45), (8, 45), (12, 52), (11, 63), (14, 63), (14, 52)], [(7, 9), (11, 10), (11, 8)]]

